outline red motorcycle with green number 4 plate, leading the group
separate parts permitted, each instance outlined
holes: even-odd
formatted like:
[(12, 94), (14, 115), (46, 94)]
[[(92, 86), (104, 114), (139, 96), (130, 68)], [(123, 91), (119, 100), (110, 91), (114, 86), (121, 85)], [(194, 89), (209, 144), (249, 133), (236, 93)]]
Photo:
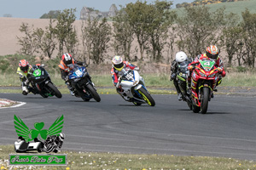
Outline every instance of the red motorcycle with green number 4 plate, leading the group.
[(191, 80), (191, 97), (192, 111), (202, 114), (207, 113), (208, 102), (211, 101), (213, 89), (218, 80), (218, 69), (215, 61), (199, 60), (192, 72)]

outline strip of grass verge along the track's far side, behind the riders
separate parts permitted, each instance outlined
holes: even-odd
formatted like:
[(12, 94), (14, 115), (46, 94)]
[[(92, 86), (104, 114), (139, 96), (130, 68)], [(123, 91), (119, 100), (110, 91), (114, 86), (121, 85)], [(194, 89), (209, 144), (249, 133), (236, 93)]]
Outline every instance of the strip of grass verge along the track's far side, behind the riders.
[[(112, 78), (108, 74), (90, 75), (92, 82), (96, 87), (113, 87)], [(168, 87), (173, 88), (173, 83), (169, 80), (168, 74), (142, 74), (147, 87)], [(56, 86), (63, 86), (64, 81), (61, 79), (59, 73), (50, 74), (52, 81)], [(20, 79), (18, 74), (0, 74), (0, 86), (20, 86)], [(223, 78), (221, 86), (224, 87), (256, 87), (256, 72), (230, 72)]]

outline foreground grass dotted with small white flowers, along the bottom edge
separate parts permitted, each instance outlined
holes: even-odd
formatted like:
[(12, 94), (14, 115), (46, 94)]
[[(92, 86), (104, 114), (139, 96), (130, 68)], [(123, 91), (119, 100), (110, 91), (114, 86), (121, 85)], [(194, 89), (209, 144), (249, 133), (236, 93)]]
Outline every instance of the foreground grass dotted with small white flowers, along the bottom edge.
[[(16, 154), (13, 145), (0, 146), (0, 167), (9, 169), (7, 160), (9, 154)], [(131, 155), (119, 153), (78, 152), (62, 150), (67, 154), (67, 166), (23, 166), (16, 169), (256, 169), (255, 161), (241, 161), (232, 158), (207, 157), (207, 156), (173, 156), (173, 155)], [(5, 162), (4, 162), (5, 161)], [(15, 167), (13, 167), (15, 169)]]

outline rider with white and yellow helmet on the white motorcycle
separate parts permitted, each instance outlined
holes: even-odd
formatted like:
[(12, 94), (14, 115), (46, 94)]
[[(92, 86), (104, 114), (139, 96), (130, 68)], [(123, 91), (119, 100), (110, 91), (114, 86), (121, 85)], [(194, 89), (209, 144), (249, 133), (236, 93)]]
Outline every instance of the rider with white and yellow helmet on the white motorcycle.
[[(113, 78), (113, 85), (116, 86), (119, 82), (119, 77), (123, 76), (122, 69), (129, 68), (131, 70), (138, 71), (139, 67), (136, 65), (131, 65), (128, 61), (124, 61), (121, 56), (116, 55), (112, 59), (112, 69), (111, 69), (111, 75)], [(121, 86), (116, 87), (116, 91), (119, 94), (124, 93), (124, 90), (121, 88)]]

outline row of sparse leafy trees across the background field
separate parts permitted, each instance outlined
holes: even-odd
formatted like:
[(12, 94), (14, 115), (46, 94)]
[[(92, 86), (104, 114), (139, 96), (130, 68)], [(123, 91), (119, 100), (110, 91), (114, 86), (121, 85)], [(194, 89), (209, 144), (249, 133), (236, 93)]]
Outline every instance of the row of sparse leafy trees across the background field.
[[(53, 58), (68, 52), (86, 60), (101, 64), (110, 59), (109, 51), (124, 55), (125, 59), (169, 64), (175, 48), (191, 57), (205, 53), (209, 44), (224, 51), (228, 65), (254, 67), (256, 54), (256, 14), (245, 9), (241, 18), (226, 14), (225, 8), (210, 12), (205, 6), (184, 8), (178, 16), (171, 10), (172, 2), (137, 1), (121, 7), (112, 21), (89, 18), (81, 26), (82, 35), (74, 28), (76, 9), (60, 11), (49, 26), (33, 28), (23, 23), (18, 37), (20, 54), (41, 55)], [(137, 56), (132, 56), (131, 45), (136, 43)], [(80, 47), (80, 48), (79, 48)], [(81, 48), (82, 47), (82, 48)]]

